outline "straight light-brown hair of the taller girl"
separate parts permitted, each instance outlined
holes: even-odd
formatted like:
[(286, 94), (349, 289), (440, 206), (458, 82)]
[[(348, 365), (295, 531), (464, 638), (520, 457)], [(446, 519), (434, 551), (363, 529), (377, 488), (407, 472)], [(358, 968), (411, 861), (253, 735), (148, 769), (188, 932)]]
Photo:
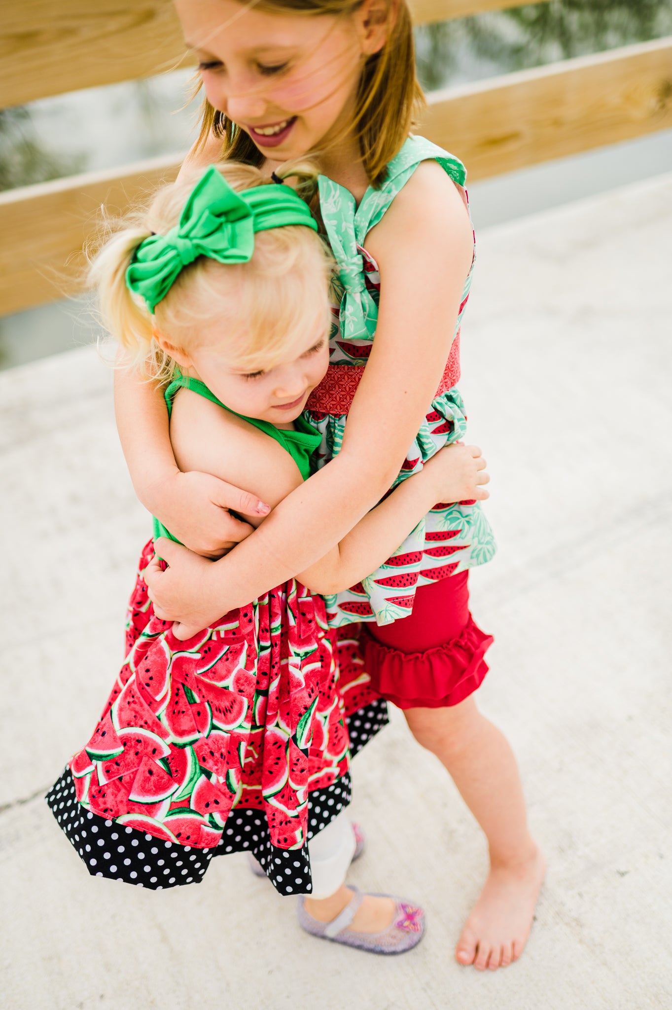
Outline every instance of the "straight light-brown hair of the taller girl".
[[(347, 17), (361, 3), (362, 0), (257, 0), (254, 8), (272, 13)], [(413, 21), (408, 3), (406, 0), (385, 0), (385, 11), (387, 40), (378, 53), (364, 61), (357, 86), (354, 120), (349, 127), (357, 137), (364, 171), (374, 187), (384, 182), (387, 165), (401, 150), (425, 104), (416, 76)], [(206, 98), (197, 145), (204, 146), (213, 133), (223, 140), (223, 158), (257, 167), (263, 164), (264, 156), (249, 134)], [(340, 139), (335, 137), (332, 145)]]

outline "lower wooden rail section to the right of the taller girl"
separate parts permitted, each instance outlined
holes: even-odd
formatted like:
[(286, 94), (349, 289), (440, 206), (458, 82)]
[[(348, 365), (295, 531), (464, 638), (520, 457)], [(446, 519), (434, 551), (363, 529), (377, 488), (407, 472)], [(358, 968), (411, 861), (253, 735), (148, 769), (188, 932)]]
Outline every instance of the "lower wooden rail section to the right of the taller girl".
[(672, 127), (672, 36), (429, 95), (419, 132), (469, 180)]

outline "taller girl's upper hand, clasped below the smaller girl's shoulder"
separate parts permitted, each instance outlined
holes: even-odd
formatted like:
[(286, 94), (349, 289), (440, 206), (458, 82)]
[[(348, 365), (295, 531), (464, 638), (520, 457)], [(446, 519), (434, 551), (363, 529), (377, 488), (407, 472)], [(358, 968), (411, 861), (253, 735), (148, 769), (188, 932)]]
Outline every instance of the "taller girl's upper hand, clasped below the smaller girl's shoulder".
[(252, 532), (252, 526), (232, 515), (258, 516), (270, 511), (255, 495), (198, 471), (177, 471), (160, 489), (157, 517), (190, 550), (221, 558)]

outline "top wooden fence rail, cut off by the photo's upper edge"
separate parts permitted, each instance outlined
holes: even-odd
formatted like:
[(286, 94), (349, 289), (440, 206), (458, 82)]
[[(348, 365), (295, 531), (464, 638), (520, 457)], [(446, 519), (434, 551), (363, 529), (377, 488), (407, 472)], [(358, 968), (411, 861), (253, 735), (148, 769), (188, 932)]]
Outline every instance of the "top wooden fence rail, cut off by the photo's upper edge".
[[(525, 0), (411, 0), (418, 24)], [(172, 0), (4, 0), (0, 107), (66, 91), (152, 77), (186, 66)], [(29, 68), (29, 70), (27, 70)]]

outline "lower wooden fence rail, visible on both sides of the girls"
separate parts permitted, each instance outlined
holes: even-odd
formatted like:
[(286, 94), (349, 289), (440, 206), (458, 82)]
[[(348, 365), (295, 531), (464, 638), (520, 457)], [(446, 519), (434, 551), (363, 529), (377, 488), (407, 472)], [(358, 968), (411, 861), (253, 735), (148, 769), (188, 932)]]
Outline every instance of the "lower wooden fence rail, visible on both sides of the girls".
[[(436, 92), (420, 132), (469, 180), (672, 127), (672, 38)], [(173, 159), (0, 193), (0, 315), (70, 290), (98, 208), (123, 209)]]

